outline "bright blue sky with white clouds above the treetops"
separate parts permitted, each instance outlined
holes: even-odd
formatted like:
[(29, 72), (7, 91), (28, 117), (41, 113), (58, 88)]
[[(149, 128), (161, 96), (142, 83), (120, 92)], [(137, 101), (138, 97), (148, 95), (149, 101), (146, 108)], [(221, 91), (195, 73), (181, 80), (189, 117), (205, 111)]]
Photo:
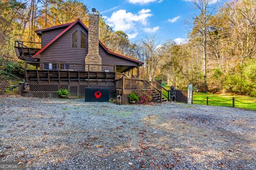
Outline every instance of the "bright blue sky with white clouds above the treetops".
[[(155, 34), (159, 43), (187, 38), (186, 24), (197, 11), (192, 0), (81, 0), (90, 10), (95, 7), (114, 30), (122, 30), (135, 42)], [(218, 1), (218, 0), (213, 0)], [(227, 0), (219, 0), (222, 4)], [(214, 3), (214, 2), (213, 2)]]

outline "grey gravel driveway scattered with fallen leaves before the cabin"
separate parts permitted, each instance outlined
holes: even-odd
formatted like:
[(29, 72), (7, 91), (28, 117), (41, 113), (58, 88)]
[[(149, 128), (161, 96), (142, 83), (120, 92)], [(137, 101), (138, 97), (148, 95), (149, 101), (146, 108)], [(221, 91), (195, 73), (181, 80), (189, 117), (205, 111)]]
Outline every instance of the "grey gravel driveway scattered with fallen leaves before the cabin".
[(0, 161), (28, 169), (256, 169), (256, 112), (0, 97)]

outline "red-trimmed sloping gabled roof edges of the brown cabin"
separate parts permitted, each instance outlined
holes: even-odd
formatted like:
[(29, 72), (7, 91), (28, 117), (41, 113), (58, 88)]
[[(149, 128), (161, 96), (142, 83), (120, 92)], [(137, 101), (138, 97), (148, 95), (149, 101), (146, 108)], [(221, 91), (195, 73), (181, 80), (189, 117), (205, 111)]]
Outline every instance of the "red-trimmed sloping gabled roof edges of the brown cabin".
[[(83, 25), (83, 27), (88, 31), (88, 28), (85, 26), (85, 24), (80, 20), (80, 19), (77, 19), (75, 22), (71, 22), (71, 23), (66, 23), (66, 24), (62, 24), (62, 25), (57, 25), (57, 26), (54, 26), (54, 27), (50, 27), (50, 28), (45, 28), (45, 29), (41, 29), (41, 30), (36, 30), (37, 33), (41, 32), (41, 31), (46, 31), (46, 30), (51, 30), (51, 29), (56, 29), (56, 28), (61, 28), (61, 27), (67, 27), (65, 30), (63, 30), (62, 32), (59, 33), (58, 36), (56, 36), (54, 39), (52, 39), (48, 44), (46, 44), (41, 50), (39, 50), (35, 55), (34, 57), (37, 57), (40, 53), (42, 53), (47, 47), (49, 47), (52, 43), (54, 43), (54, 41), (56, 41), (57, 39), (59, 39), (64, 33), (66, 33), (70, 28), (72, 28), (76, 23), (80, 23), (81, 25)], [(133, 61), (133, 62), (136, 62), (140, 65), (144, 64), (143, 62), (140, 62), (138, 60), (134, 60), (130, 57), (126, 57), (126, 56), (123, 56), (121, 54), (116, 54), (116, 53), (113, 53), (113, 52), (110, 52), (110, 50), (103, 44), (101, 43), (101, 41), (99, 40), (99, 44), (106, 50), (107, 53), (109, 54), (112, 54), (112, 55), (115, 55), (117, 57), (121, 57), (121, 58), (124, 58), (126, 60), (130, 60), (130, 61)]]

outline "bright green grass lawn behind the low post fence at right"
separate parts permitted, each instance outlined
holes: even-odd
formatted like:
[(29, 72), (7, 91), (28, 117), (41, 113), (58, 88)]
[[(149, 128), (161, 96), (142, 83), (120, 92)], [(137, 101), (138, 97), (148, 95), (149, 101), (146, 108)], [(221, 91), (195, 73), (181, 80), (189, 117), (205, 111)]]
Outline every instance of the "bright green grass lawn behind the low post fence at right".
[[(209, 97), (209, 105), (211, 106), (228, 106), (228, 107), (232, 107), (232, 100), (229, 101), (225, 101), (228, 99), (232, 99), (233, 97), (238, 100), (241, 101), (243, 103), (253, 103), (256, 101), (256, 97), (248, 97), (248, 96), (231, 96), (231, 95), (215, 95), (215, 94), (206, 94), (203, 92), (194, 92), (193, 93), (193, 104), (197, 104), (197, 105), (206, 105), (206, 97)], [(205, 100), (202, 100), (205, 99)], [(213, 100), (219, 100), (221, 102), (218, 101), (213, 101)], [(235, 101), (235, 107), (238, 108), (245, 108), (245, 109), (251, 109), (256, 111), (256, 103), (254, 104), (242, 104), (239, 103), (238, 101)]]

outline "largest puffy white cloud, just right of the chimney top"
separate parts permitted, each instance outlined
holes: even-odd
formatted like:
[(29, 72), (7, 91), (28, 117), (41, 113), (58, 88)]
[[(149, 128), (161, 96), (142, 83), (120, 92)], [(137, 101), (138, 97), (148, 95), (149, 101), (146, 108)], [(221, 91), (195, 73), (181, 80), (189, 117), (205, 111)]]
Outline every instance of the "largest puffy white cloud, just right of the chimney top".
[(133, 14), (126, 10), (118, 10), (113, 12), (106, 21), (116, 31), (128, 31), (134, 29), (136, 24), (147, 25), (147, 18), (153, 15), (150, 12), (149, 9), (142, 9), (138, 14)]

